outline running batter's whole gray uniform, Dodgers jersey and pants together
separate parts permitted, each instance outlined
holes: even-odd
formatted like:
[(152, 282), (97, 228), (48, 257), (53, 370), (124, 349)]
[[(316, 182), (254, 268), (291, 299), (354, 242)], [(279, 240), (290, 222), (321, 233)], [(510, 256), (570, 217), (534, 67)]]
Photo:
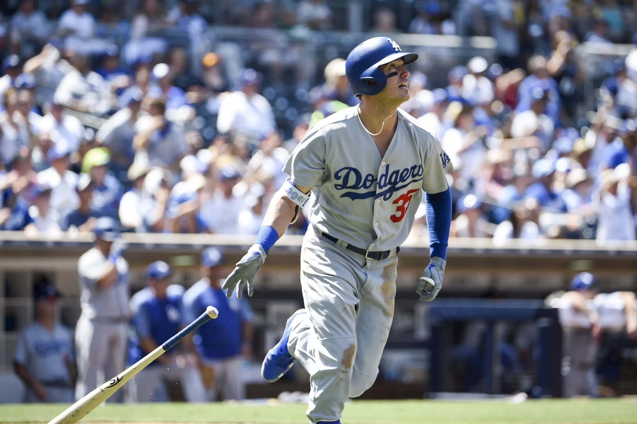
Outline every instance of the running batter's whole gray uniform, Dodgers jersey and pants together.
[(422, 189), (447, 189), (452, 170), (438, 140), (398, 109), (383, 157), (358, 109), (311, 127), (284, 172), (313, 187), (311, 226), (301, 248), (301, 288), (308, 313), (290, 324), (288, 349), (310, 374), (312, 423), (336, 421), (348, 397), (373, 385), (394, 317), (398, 259), (368, 259), (320, 238), (323, 231), (366, 250), (392, 250), (412, 229)]

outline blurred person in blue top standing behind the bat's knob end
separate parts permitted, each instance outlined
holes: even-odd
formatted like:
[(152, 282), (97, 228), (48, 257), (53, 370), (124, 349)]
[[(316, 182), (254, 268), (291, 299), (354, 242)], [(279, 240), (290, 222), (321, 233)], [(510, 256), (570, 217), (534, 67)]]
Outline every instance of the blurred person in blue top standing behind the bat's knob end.
[(219, 317), (199, 327), (187, 344), (196, 348), (210, 400), (217, 400), (219, 392), (224, 400), (240, 400), (245, 399), (241, 362), (252, 355), (252, 310), (246, 299), (226, 297), (223, 263), (215, 247), (201, 253), (202, 278), (183, 294), (183, 324), (190, 324), (208, 305), (217, 308)]

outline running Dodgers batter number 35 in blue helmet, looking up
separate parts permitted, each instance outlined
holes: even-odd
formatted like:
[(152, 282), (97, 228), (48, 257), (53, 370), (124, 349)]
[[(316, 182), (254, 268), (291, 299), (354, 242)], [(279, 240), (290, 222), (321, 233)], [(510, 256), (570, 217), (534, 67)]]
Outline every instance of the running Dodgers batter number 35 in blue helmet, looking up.
[(340, 423), (348, 397), (373, 385), (394, 316), (399, 245), (427, 193), (431, 259), (417, 285), (420, 301), (441, 289), (451, 222), (445, 170), (452, 164), (419, 121), (397, 109), (409, 99), (405, 68), (418, 57), (386, 37), (368, 39), (347, 58), (361, 104), (313, 125), (283, 170), (257, 240), (224, 284), (228, 296), (252, 281), (268, 250), (311, 199), (301, 247), (305, 308), (287, 320), (261, 374), (278, 380), (295, 359), (310, 373), (312, 423)]

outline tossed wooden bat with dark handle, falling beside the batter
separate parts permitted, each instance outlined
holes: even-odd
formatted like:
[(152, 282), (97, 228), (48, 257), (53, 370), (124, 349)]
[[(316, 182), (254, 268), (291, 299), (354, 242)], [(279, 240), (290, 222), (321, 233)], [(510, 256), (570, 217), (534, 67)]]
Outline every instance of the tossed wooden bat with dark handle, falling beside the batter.
[(139, 373), (142, 369), (148, 366), (151, 362), (161, 356), (162, 353), (169, 350), (171, 347), (179, 343), (185, 336), (197, 329), (199, 325), (208, 322), (211, 318), (217, 318), (218, 311), (212, 306), (208, 306), (206, 311), (201, 314), (199, 318), (185, 327), (182, 331), (178, 332), (172, 338), (168, 339), (166, 343), (157, 347), (153, 352), (148, 353), (145, 357), (138, 360), (135, 364), (125, 369), (122, 373), (106, 381), (103, 385), (97, 387), (95, 390), (87, 394), (82, 399), (75, 402), (75, 404), (69, 406), (66, 411), (56, 416), (48, 424), (75, 424), (82, 420), (87, 414), (95, 409), (99, 404), (108, 399), (113, 393), (124, 385), (127, 381), (131, 380), (135, 374)]

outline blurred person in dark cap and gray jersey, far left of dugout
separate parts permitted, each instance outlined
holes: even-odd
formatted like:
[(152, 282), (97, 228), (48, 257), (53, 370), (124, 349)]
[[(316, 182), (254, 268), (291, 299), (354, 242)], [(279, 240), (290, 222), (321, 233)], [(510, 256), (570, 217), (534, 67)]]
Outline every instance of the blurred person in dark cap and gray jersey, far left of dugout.
[(34, 288), (36, 320), (20, 334), (13, 356), (13, 371), (26, 389), (22, 402), (73, 402), (73, 334), (55, 318), (59, 296), (48, 284)]

